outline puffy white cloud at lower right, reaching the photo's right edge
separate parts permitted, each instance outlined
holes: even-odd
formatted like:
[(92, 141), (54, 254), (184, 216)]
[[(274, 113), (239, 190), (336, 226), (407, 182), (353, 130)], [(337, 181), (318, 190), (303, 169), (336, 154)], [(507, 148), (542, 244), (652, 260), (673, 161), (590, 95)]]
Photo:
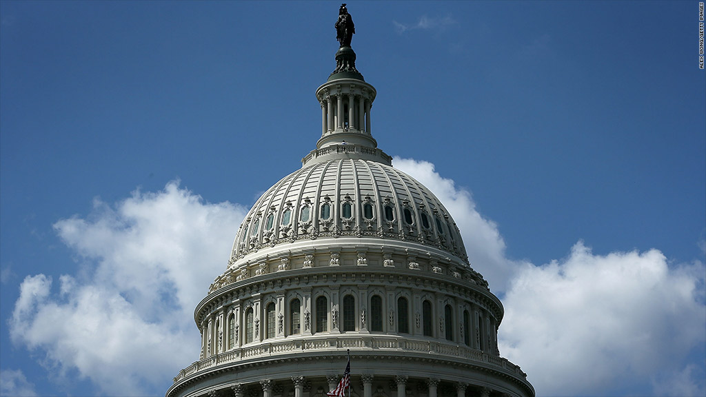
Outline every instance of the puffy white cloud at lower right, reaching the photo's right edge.
[(657, 249), (599, 256), (578, 242), (568, 258), (515, 275), (501, 352), (544, 396), (702, 396), (704, 368), (686, 362), (704, 349), (704, 272), (670, 266)]

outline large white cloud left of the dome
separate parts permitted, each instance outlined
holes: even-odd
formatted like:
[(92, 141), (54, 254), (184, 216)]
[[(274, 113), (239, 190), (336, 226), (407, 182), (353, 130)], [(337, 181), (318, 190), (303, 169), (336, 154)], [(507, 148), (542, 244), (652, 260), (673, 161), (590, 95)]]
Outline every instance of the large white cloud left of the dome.
[[(245, 209), (204, 203), (180, 189), (142, 194), (54, 229), (83, 271), (30, 275), (9, 322), (14, 343), (40, 350), (59, 372), (77, 370), (98, 393), (162, 392), (164, 380), (198, 358), (192, 312), (225, 270)], [(155, 387), (156, 386), (156, 387)]]

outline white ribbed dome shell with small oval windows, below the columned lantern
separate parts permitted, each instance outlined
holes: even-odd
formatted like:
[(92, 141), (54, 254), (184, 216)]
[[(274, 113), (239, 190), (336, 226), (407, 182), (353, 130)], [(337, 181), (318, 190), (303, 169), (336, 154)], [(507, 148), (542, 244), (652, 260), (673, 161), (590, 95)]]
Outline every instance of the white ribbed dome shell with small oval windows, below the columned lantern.
[(458, 227), (429, 189), (382, 162), (339, 158), (301, 168), (268, 189), (242, 223), (230, 265), (268, 247), (328, 245), (325, 239), (342, 237), (414, 242), (467, 263)]

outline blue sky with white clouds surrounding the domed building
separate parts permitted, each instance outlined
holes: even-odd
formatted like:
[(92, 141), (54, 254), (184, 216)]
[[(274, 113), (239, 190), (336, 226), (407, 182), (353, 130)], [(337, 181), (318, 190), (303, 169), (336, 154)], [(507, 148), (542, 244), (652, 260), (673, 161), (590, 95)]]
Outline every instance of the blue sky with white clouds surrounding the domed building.
[[(244, 212), (321, 134), (339, 5), (0, 2), (3, 396), (158, 396), (198, 358)], [(348, 8), (373, 136), (460, 223), (538, 396), (703, 396), (698, 2)]]

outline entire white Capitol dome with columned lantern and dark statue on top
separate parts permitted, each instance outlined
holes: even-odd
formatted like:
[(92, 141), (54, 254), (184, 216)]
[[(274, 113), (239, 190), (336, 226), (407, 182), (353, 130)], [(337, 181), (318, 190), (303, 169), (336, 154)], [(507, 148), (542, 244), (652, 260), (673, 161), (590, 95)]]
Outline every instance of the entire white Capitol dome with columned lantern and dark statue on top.
[(246, 215), (166, 397), (325, 397), (348, 354), (350, 397), (534, 397), (451, 214), (377, 147), (345, 4), (336, 30), (316, 149)]

